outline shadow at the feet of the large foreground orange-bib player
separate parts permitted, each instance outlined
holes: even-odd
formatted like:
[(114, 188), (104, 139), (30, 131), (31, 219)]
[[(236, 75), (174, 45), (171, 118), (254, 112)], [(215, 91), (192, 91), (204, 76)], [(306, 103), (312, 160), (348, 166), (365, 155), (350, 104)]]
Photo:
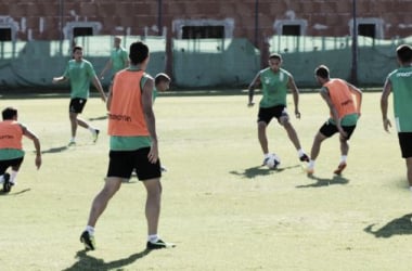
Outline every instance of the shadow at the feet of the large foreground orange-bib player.
[(63, 271), (79, 271), (79, 270), (123, 270), (123, 267), (133, 263), (134, 261), (149, 255), (152, 250), (144, 249), (141, 253), (136, 253), (127, 258), (105, 262), (103, 259), (94, 258), (87, 254), (87, 250), (79, 250), (76, 253), (78, 259), (72, 267), (64, 269)]

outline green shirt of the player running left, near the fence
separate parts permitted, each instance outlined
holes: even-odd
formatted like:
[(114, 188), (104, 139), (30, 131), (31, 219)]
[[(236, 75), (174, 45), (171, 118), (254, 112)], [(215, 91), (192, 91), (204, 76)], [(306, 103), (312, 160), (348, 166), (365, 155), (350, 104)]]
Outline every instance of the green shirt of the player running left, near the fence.
[(67, 62), (64, 77), (70, 80), (70, 98), (88, 99), (90, 93), (90, 80), (95, 76), (93, 65), (87, 60)]

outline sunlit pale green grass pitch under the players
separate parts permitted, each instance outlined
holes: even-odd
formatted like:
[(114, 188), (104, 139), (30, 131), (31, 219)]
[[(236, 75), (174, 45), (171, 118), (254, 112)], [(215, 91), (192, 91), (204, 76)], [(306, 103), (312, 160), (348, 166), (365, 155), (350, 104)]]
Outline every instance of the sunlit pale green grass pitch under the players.
[[(82, 114), (102, 130), (98, 143), (79, 129), (78, 145), (67, 149), (68, 98), (3, 96), (1, 108), (16, 106), (20, 120), (40, 137), (43, 165), (35, 169), (34, 146), (25, 140), (18, 184), (0, 195), (0, 270), (411, 270), (412, 194), (396, 130), (382, 127), (379, 93), (364, 94), (339, 178), (332, 175), (336, 136), (322, 145), (309, 179), (274, 121), (269, 144), (282, 165), (260, 167), (258, 107), (246, 102), (246, 94), (157, 99), (168, 168), (159, 233), (177, 247), (144, 251), (145, 192), (133, 179), (101, 217), (98, 249), (85, 251), (79, 235), (107, 166), (104, 104), (90, 99)], [(314, 93), (300, 95), (300, 112), (292, 124), (309, 153), (329, 112)]]

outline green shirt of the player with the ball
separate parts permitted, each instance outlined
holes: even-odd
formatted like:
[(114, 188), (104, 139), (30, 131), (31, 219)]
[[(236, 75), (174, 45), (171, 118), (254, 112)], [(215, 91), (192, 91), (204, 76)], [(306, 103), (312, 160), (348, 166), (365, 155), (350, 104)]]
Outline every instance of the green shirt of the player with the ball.
[(278, 73), (273, 73), (270, 67), (260, 72), (260, 82), (262, 87), (260, 107), (286, 106), (289, 77), (292, 77), (292, 75), (283, 68), (280, 68)]

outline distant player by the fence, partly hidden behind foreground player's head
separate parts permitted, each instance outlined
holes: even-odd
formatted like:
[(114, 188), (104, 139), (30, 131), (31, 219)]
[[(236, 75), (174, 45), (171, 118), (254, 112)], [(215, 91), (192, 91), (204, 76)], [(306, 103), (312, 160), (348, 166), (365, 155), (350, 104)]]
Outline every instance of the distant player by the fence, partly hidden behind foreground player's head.
[(127, 56), (127, 50), (121, 47), (121, 38), (115, 37), (114, 48), (111, 52), (111, 57), (106, 62), (103, 70), (100, 73), (100, 78), (104, 78), (104, 74), (112, 68), (113, 73), (127, 68), (129, 65), (129, 57)]

